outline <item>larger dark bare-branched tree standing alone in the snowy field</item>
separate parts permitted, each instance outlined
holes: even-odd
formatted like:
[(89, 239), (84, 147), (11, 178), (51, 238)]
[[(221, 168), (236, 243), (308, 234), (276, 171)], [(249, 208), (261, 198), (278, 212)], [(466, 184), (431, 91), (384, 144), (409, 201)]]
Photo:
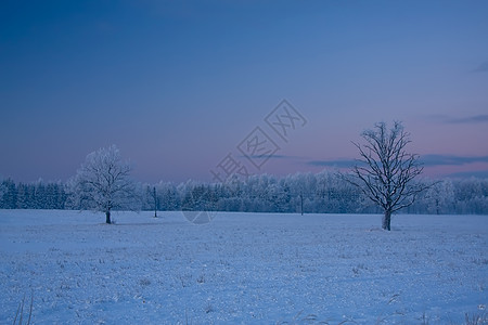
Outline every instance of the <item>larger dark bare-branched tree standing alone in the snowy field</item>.
[(378, 122), (361, 136), (365, 144), (352, 142), (361, 157), (346, 180), (384, 210), (382, 227), (389, 231), (391, 213), (412, 205), (418, 194), (428, 188), (414, 181), (423, 167), (418, 155), (407, 153), (410, 134), (399, 121), (389, 130), (385, 122)]

